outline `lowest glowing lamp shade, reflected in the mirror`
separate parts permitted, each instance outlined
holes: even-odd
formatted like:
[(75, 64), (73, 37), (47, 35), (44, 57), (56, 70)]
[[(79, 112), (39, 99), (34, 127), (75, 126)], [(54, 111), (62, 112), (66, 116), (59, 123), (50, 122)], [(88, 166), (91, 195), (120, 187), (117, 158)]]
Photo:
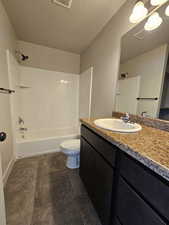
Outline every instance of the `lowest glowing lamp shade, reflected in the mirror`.
[(159, 13), (155, 12), (148, 18), (144, 29), (147, 31), (155, 30), (161, 25), (162, 22), (163, 20), (160, 17)]

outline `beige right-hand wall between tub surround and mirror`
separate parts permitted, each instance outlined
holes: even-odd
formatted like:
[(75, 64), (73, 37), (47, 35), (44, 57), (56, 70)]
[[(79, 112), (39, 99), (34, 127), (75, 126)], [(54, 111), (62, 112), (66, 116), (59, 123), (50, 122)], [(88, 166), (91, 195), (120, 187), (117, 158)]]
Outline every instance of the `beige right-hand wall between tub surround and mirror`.
[(81, 71), (94, 67), (92, 116), (111, 116), (119, 69), (120, 40), (132, 28), (129, 15), (135, 0), (128, 0), (81, 55)]

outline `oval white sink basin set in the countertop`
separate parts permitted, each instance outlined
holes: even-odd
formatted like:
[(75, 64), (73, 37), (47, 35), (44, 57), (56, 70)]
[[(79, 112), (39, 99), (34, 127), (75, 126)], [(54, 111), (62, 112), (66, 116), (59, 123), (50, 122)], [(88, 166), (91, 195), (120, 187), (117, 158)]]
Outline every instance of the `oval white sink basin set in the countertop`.
[(134, 133), (142, 129), (137, 123), (125, 123), (121, 119), (98, 119), (94, 121), (97, 127), (122, 133)]

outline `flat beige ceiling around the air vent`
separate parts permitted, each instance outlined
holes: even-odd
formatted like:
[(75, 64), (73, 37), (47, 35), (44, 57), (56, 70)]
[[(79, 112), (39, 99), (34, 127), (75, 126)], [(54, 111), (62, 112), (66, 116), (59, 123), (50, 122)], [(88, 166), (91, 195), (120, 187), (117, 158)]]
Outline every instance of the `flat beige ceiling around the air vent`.
[(126, 0), (3, 0), (18, 39), (81, 53)]

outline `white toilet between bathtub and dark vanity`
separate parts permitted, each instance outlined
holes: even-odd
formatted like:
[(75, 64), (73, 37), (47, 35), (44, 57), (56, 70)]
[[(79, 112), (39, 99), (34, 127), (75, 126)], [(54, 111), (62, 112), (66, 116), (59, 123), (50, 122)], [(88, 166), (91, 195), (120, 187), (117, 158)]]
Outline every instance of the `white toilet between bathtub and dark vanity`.
[(60, 144), (61, 151), (67, 156), (66, 167), (80, 167), (80, 139), (71, 139)]

